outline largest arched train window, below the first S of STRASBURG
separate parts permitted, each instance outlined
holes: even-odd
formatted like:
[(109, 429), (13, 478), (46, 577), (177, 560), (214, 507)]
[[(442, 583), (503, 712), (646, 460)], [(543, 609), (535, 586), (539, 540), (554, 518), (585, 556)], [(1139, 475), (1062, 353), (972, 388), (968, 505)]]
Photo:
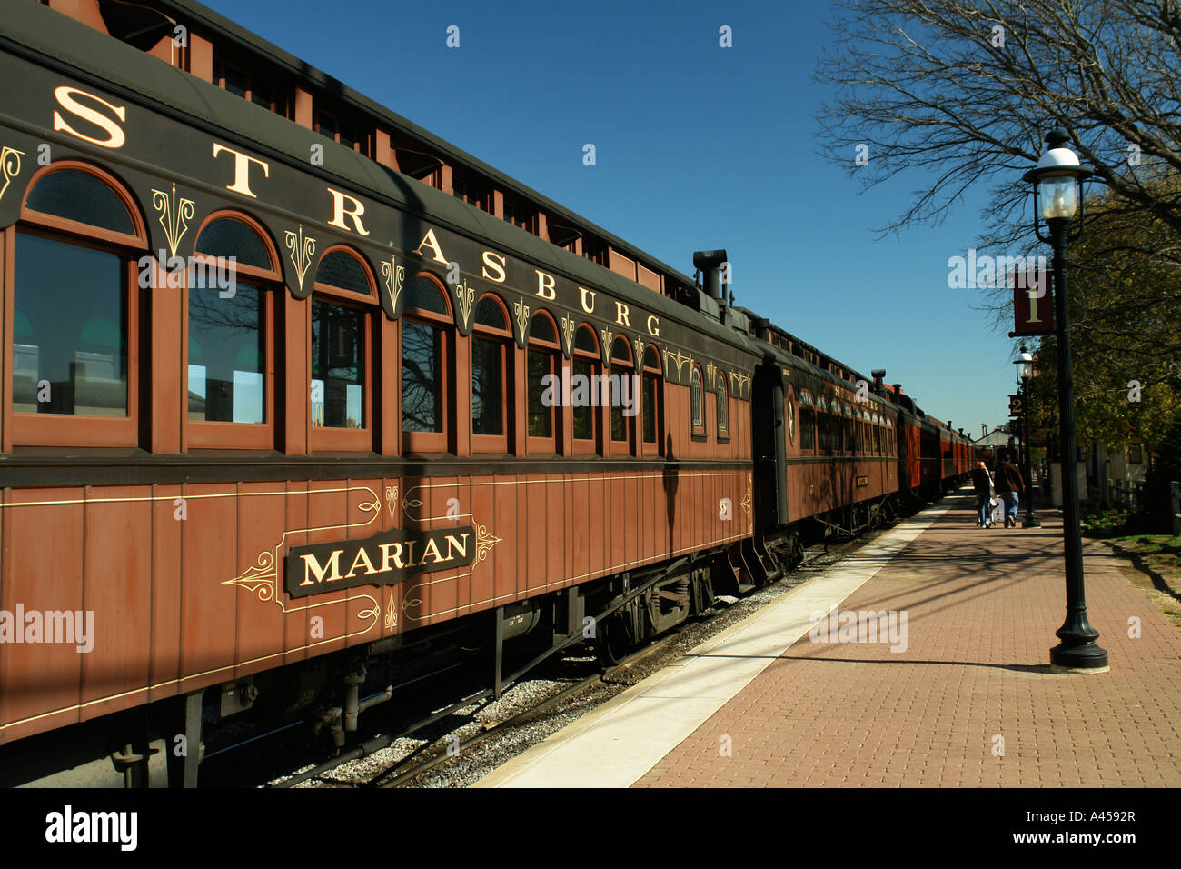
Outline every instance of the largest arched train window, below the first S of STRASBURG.
[[(158, 281), (118, 181), (77, 161), (33, 176), (13, 262), (12, 427), (6, 447), (138, 443), (139, 293)], [(183, 280), (183, 278), (182, 278)], [(167, 287), (165, 287), (167, 288)]]

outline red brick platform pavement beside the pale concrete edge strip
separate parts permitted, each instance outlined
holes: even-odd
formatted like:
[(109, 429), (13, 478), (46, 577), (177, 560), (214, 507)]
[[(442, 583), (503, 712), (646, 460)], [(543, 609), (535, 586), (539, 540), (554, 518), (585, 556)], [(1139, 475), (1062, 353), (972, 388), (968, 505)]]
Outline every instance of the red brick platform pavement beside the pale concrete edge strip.
[(1050, 673), (1061, 514), (981, 530), (955, 498), (840, 607), (907, 611), (905, 651), (804, 636), (635, 786), (1181, 785), (1181, 631), (1084, 543), (1111, 669)]

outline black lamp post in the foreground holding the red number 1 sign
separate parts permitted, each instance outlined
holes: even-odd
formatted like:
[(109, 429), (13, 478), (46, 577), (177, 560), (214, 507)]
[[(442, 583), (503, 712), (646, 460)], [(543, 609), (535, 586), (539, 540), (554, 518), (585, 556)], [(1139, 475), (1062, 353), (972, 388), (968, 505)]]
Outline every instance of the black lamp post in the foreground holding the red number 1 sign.
[[(1087, 621), (1087, 594), (1083, 584), (1083, 540), (1078, 531), (1078, 475), (1075, 447), (1075, 377), (1070, 368), (1070, 314), (1066, 305), (1065, 247), (1068, 238), (1082, 233), (1083, 214), (1075, 233), (1070, 221), (1083, 200), (1082, 183), (1091, 170), (1078, 163), (1066, 148), (1070, 136), (1063, 129), (1050, 132), (1049, 149), (1037, 168), (1022, 177), (1033, 184), (1033, 232), (1039, 241), (1053, 246), (1053, 312), (1058, 345), (1058, 427), (1062, 433), (1062, 523), (1066, 566), (1066, 621), (1055, 631), (1062, 641), (1050, 649), (1050, 663), (1066, 672), (1095, 673), (1108, 669), (1107, 651), (1095, 644), (1100, 633)], [(1049, 235), (1042, 232), (1038, 216), (1045, 220)]]

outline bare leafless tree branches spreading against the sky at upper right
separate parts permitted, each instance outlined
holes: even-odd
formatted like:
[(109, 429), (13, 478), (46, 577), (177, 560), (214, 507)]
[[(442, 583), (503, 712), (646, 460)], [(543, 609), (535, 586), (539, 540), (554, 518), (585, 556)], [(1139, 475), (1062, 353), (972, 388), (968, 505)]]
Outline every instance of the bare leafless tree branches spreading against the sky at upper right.
[[(991, 184), (981, 247), (1033, 244), (1020, 181), (1062, 127), (1138, 215), (1133, 252), (1181, 264), (1177, 0), (840, 0), (817, 77), (823, 149), (867, 187), (934, 168), (883, 232), (938, 223)], [(859, 145), (862, 148), (859, 151)], [(861, 164), (856, 156), (862, 155)]]

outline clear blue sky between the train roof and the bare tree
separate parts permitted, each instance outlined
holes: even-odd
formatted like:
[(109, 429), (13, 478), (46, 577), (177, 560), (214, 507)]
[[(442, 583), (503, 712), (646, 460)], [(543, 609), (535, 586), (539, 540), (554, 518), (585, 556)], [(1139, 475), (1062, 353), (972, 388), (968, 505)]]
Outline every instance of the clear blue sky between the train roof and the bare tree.
[(205, 1), (686, 274), (694, 249), (724, 247), (738, 304), (885, 368), (929, 415), (974, 436), (1007, 419), (1007, 329), (973, 310), (984, 291), (947, 286), (987, 190), (877, 238), (929, 180), (862, 194), (820, 156), (826, 4)]

